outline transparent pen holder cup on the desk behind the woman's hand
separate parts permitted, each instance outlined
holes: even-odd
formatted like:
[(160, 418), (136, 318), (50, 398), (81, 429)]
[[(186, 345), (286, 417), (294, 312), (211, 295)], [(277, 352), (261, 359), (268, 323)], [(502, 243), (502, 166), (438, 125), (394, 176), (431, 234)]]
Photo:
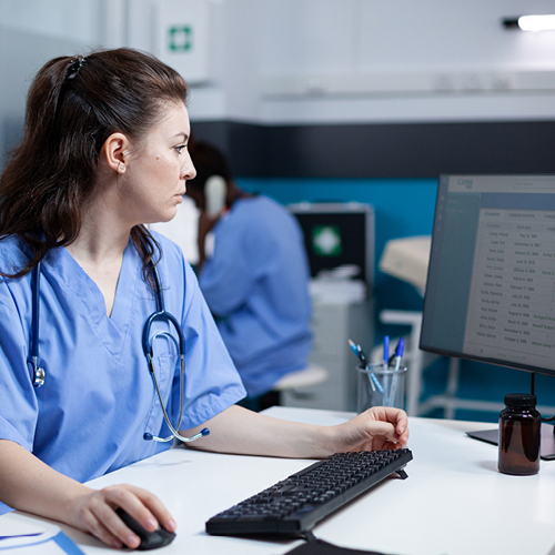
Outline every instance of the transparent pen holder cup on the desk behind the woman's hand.
[(404, 408), (406, 369), (384, 370), (383, 364), (357, 366), (359, 396), (356, 410), (364, 412), (372, 406)]

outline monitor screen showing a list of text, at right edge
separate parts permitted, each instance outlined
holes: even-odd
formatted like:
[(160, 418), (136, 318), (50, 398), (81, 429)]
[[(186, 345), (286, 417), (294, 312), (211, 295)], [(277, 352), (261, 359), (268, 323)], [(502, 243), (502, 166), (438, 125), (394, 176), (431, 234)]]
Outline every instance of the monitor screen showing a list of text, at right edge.
[(555, 175), (440, 179), (420, 346), (555, 375)]

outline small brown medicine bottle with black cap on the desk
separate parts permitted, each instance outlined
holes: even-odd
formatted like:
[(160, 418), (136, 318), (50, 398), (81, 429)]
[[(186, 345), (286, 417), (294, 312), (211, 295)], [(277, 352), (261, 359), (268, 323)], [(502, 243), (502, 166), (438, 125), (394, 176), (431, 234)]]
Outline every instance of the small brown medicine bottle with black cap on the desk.
[(500, 472), (526, 476), (539, 472), (542, 418), (536, 396), (526, 393), (505, 395), (500, 414)]

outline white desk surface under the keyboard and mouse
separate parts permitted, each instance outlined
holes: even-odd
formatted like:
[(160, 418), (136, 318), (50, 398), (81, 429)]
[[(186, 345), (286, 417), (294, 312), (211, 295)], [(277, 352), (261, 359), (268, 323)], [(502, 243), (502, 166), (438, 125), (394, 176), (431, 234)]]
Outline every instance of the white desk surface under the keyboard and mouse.
[[(350, 414), (273, 407), (272, 416), (336, 424)], [(395, 555), (555, 555), (555, 462), (536, 476), (496, 470), (497, 448), (464, 431), (488, 425), (411, 418), (408, 478), (387, 480), (314, 528), (339, 545)], [(490, 425), (491, 426), (491, 425)], [(175, 448), (91, 482), (131, 483), (159, 495), (178, 522), (178, 537), (160, 554), (279, 555), (300, 541), (209, 536), (204, 522), (222, 509), (311, 464)], [(0, 535), (37, 531), (46, 522), (23, 513), (0, 517)], [(115, 553), (62, 526), (84, 553)]]

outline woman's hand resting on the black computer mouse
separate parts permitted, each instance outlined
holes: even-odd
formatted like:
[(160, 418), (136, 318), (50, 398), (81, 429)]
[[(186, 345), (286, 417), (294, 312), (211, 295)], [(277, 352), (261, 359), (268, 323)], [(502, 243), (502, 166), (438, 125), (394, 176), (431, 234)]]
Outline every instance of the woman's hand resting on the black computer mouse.
[(155, 531), (159, 523), (168, 532), (175, 531), (175, 522), (155, 495), (127, 484), (90, 490), (74, 500), (68, 511), (71, 515), (68, 524), (97, 536), (112, 547), (134, 549), (141, 541), (115, 514), (118, 507), (149, 532)]

